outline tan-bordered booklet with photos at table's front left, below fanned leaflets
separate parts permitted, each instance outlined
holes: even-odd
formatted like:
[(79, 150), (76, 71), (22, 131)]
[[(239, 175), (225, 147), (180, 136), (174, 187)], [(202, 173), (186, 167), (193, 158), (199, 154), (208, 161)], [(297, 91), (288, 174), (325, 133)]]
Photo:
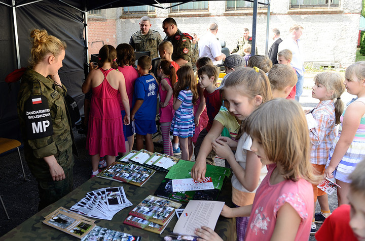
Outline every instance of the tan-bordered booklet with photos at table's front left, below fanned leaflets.
[(94, 220), (70, 213), (64, 208), (47, 215), (43, 223), (78, 238), (83, 238), (96, 226)]

